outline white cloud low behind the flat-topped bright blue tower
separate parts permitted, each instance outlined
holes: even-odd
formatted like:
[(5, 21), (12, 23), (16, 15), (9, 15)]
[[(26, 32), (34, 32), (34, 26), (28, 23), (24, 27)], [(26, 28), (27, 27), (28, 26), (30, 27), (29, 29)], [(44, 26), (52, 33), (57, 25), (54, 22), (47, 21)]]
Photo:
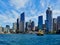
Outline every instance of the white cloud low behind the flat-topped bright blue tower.
[(45, 23), (44, 22), (46, 20), (46, 14), (45, 14), (45, 12), (44, 13), (38, 12), (37, 15), (35, 15), (35, 16), (26, 17), (26, 21), (34, 19), (34, 21), (36, 20), (35, 23), (37, 25), (38, 24), (38, 16), (43, 16), (43, 23)]

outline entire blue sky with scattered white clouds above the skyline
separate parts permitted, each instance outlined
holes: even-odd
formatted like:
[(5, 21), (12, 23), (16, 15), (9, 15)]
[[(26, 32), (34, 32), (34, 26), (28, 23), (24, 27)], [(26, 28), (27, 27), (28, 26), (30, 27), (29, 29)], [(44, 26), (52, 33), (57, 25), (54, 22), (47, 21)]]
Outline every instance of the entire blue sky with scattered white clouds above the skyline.
[(38, 22), (38, 16), (46, 19), (46, 9), (51, 7), (53, 18), (60, 16), (60, 0), (0, 0), (0, 25), (12, 26), (22, 12), (25, 12), (26, 21), (30, 19)]

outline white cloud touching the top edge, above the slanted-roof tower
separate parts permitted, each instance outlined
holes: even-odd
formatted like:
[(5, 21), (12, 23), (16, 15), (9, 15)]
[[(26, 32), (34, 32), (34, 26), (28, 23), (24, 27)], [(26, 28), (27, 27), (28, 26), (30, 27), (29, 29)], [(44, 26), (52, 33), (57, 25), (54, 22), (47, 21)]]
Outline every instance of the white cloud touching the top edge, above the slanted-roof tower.
[(12, 6), (15, 6), (17, 9), (19, 9), (24, 8), (28, 1), (29, 0), (10, 0), (10, 3)]

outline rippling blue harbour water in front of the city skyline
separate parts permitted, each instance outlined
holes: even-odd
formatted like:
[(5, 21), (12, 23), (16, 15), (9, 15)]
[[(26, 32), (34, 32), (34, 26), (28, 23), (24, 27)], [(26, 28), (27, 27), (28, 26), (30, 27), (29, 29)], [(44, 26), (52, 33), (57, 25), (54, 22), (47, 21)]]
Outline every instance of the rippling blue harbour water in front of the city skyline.
[(0, 45), (60, 45), (60, 35), (0, 34)]

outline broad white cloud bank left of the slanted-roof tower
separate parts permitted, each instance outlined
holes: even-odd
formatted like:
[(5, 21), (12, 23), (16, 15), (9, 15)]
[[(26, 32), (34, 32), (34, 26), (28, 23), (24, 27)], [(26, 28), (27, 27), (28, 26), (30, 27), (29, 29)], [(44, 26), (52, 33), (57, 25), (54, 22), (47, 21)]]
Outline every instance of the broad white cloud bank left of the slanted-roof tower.
[(6, 14), (5, 13), (0, 14), (0, 21), (2, 21), (3, 23), (16, 22), (17, 18), (19, 17), (19, 14), (14, 10), (12, 10), (11, 12), (12, 13), (10, 13), (9, 11), (6, 11)]

